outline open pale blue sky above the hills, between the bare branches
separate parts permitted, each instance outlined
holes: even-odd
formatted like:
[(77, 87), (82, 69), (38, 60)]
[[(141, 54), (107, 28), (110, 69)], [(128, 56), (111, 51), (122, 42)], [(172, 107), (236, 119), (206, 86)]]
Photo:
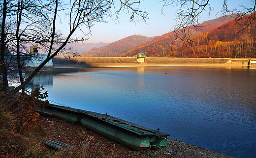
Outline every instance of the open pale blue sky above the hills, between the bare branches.
[[(118, 0), (117, 0), (118, 1)], [(175, 14), (179, 9), (176, 5), (169, 5), (163, 8), (163, 14), (161, 14), (162, 2), (160, 0), (141, 0), (140, 9), (148, 12), (150, 19), (147, 19), (147, 23), (137, 22), (136, 24), (129, 22), (130, 14), (122, 13), (120, 15), (120, 24), (115, 24), (110, 18), (105, 20), (108, 23), (96, 23), (95, 26), (91, 28), (90, 36), (85, 43), (111, 43), (118, 41), (122, 38), (128, 37), (134, 34), (140, 34), (147, 37), (158, 36), (171, 31), (171, 27), (176, 24)], [(211, 11), (209, 16), (209, 11), (205, 11), (199, 18), (199, 22), (202, 23), (206, 20), (215, 19), (216, 14), (222, 10), (224, 0), (210, 0), (211, 7), (214, 10)], [(239, 5), (247, 5), (252, 7), (252, 0), (228, 0), (228, 8), (234, 9), (238, 8)], [(64, 27), (62, 27), (63, 32), (65, 32)], [(86, 31), (86, 28), (83, 27)], [(81, 36), (80, 31), (75, 32), (76, 36)]]

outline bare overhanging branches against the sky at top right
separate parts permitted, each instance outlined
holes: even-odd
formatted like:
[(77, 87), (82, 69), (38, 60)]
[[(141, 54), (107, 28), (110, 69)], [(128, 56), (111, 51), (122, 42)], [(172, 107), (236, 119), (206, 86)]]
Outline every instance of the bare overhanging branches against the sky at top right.
[[(190, 30), (192, 29), (201, 29), (203, 25), (199, 23), (199, 17), (205, 12), (210, 15), (213, 9), (220, 11), (217, 13), (217, 17), (225, 17), (227, 15), (234, 15), (237, 24), (239, 20), (245, 15), (251, 15), (249, 18), (252, 22), (256, 19), (255, 11), (256, 11), (256, 0), (252, 0), (251, 6), (243, 5), (243, 1), (239, 5), (242, 9), (229, 9), (227, 0), (223, 0), (222, 8), (213, 8), (211, 6), (212, 3), (216, 2), (214, 0), (161, 0), (163, 3), (163, 8), (177, 5), (179, 9), (176, 12), (176, 25), (172, 27), (172, 30), (176, 34), (176, 39), (180, 38), (182, 41), (190, 40)], [(250, 25), (250, 24), (249, 24)]]

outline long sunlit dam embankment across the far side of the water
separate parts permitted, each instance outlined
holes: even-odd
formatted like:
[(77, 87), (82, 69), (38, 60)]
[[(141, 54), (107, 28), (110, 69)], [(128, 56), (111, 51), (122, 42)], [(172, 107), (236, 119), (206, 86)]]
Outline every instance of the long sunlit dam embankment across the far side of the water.
[(256, 66), (256, 58), (166, 58), (166, 57), (54, 57), (54, 68), (149, 67), (149, 66)]

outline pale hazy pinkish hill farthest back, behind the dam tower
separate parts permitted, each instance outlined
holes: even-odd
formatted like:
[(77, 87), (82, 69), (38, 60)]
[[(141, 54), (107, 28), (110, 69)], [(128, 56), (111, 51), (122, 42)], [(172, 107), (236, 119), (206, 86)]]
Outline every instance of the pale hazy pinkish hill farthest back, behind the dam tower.
[(120, 56), (122, 53), (128, 52), (130, 49), (141, 45), (154, 37), (146, 37), (142, 35), (128, 36), (119, 41), (110, 43), (100, 48), (93, 48), (88, 52), (81, 53), (81, 56)]

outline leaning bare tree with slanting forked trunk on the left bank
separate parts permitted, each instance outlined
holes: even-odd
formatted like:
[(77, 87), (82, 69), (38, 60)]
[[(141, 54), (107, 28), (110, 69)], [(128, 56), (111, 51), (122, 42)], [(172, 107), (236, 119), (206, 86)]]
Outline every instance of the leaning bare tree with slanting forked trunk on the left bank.
[[(128, 11), (132, 11), (133, 16), (137, 15), (143, 20), (147, 18), (146, 12), (140, 11), (139, 8), (135, 8), (133, 6), (135, 4), (139, 6), (140, 0), (120, 0), (120, 2), (121, 7), (115, 12), (117, 13), (116, 17), (118, 17), (121, 10), (127, 9)], [(41, 4), (44, 3), (40, 1), (38, 6)], [(35, 16), (34, 14), (28, 14), (27, 16), (24, 15), (29, 24), (24, 27), (23, 31), (21, 31), (21, 40), (27, 43), (40, 44), (48, 50), (48, 54), (46, 59), (31, 73), (31, 75), (18, 87), (8, 93), (8, 95), (13, 95), (20, 89), (24, 88), (24, 86), (29, 83), (29, 81), (47, 62), (49, 62), (58, 53), (64, 53), (64, 47), (67, 43), (83, 42), (87, 40), (88, 34), (91, 33), (91, 27), (95, 23), (105, 22), (104, 18), (108, 15), (112, 6), (112, 0), (70, 0), (69, 3), (60, 3), (58, 0), (55, 0), (54, 3), (47, 5), (47, 7), (39, 7), (41, 12), (38, 13), (40, 17), (39, 19), (33, 20), (33, 17)], [(55, 8), (54, 11), (52, 11), (52, 8)], [(28, 7), (27, 10), (29, 9), (33, 9), (33, 7)], [(56, 29), (56, 18), (58, 16), (61, 20), (64, 20), (58, 15), (63, 12), (66, 13), (64, 17), (68, 17), (69, 21), (69, 32), (65, 37)], [(45, 23), (45, 25), (43, 25), (43, 23)], [(47, 31), (47, 29), (49, 30)], [(84, 31), (86, 29), (88, 30), (88, 33)], [(81, 30), (86, 38), (71, 38), (76, 30)]]

